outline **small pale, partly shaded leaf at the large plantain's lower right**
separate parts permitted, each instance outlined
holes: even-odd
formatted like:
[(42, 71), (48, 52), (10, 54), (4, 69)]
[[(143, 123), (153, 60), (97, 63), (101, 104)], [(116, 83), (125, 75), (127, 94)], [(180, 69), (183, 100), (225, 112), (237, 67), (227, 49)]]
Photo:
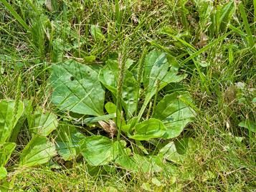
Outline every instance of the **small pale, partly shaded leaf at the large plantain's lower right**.
[(194, 148), (194, 140), (192, 138), (184, 138), (176, 142), (171, 141), (161, 148), (158, 155), (174, 163), (182, 164), (186, 160), (186, 155), (189, 155), (189, 151), (194, 150)]

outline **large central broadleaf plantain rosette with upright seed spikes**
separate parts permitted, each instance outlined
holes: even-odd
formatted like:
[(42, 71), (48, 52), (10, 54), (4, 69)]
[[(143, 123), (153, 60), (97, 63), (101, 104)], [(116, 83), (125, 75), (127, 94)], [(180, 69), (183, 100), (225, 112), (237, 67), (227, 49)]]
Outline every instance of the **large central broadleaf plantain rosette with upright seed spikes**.
[[(104, 135), (95, 135), (87, 128), (91, 136), (80, 137), (78, 144), (72, 144), (72, 148), (76, 150), (63, 154), (73, 139), (71, 137), (67, 141), (69, 137), (62, 134), (65, 140), (60, 141), (59, 136), (58, 142), (65, 146), (65, 150), (57, 147), (57, 152), (63, 158), (70, 160), (81, 153), (87, 163), (94, 166), (112, 162), (132, 171), (162, 170), (164, 158), (161, 155), (163, 152), (159, 152), (161, 148), (158, 144), (162, 147), (167, 144), (164, 148), (169, 151), (166, 149), (169, 139), (178, 137), (185, 126), (193, 121), (195, 112), (191, 106), (194, 105), (189, 92), (173, 92), (163, 95), (163, 99), (158, 101), (158, 93), (166, 85), (181, 82), (186, 74), (180, 73), (176, 66), (173, 67), (164, 52), (143, 52), (142, 57), (138, 67), (133, 67), (132, 70), (129, 70), (131, 64), (127, 64), (128, 62), (122, 64), (120, 69), (120, 59), (108, 59), (98, 72), (93, 67), (74, 60), (52, 66), (52, 102), (56, 107), (62, 112), (80, 114), (78, 119), (75, 117), (77, 115), (70, 115), (75, 124), (79, 124), (80, 120), (81, 125), (85, 123), (90, 127), (92, 123), (99, 122), (98, 127), (101, 126), (112, 135), (111, 140)], [(121, 89), (118, 88), (120, 74), (123, 75), (119, 84)], [(105, 95), (111, 96), (105, 98)], [(118, 106), (117, 97), (120, 97)], [(153, 107), (150, 107), (152, 104)], [(62, 126), (62, 131), (64, 129), (65, 126)], [(149, 143), (153, 143), (154, 147), (148, 148)], [(184, 155), (178, 154), (175, 145), (171, 145), (171, 148), (176, 156)], [(142, 155), (143, 153), (148, 156)], [(139, 166), (141, 163), (142, 168)]]

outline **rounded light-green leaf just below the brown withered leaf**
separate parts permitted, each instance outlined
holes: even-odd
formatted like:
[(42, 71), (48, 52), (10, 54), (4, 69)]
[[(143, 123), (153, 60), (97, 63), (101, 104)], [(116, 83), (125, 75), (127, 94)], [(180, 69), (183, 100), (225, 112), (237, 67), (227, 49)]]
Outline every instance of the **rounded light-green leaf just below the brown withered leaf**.
[(118, 146), (123, 148), (125, 142), (113, 142), (109, 138), (94, 135), (80, 142), (80, 151), (90, 165), (107, 165), (118, 156)]

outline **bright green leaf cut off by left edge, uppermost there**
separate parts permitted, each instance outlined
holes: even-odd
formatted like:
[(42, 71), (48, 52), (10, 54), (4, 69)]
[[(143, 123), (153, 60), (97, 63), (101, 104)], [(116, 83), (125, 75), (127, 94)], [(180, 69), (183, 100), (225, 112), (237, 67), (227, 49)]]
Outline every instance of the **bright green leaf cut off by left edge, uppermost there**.
[(23, 110), (24, 104), (21, 101), (18, 101), (16, 106), (14, 100), (0, 101), (0, 145), (11, 137), (11, 132), (22, 116)]

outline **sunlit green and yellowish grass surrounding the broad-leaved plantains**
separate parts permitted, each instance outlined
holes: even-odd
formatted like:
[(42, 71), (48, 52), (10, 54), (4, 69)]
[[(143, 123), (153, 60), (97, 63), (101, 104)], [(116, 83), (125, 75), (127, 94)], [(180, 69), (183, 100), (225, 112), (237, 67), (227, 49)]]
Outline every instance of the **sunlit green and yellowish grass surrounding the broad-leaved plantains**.
[[(59, 159), (54, 159), (57, 168), (13, 168), (29, 140), (24, 123), (7, 166), (6, 181), (13, 191), (256, 190), (255, 133), (238, 126), (256, 120), (255, 1), (234, 2), (234, 6), (218, 1), (211, 5), (210, 16), (203, 14), (200, 1), (52, 0), (53, 11), (43, 2), (0, 0), (0, 99), (32, 100), (33, 107), (57, 113), (50, 102), (52, 63), (75, 59), (88, 64), (94, 56), (97, 69), (119, 54), (121, 63), (131, 58), (139, 67), (149, 50), (161, 49), (188, 77), (167, 85), (151, 105), (154, 108), (167, 93), (188, 90), (197, 116), (179, 138), (194, 138), (196, 150), (174, 174), (131, 173), (115, 165), (91, 168), (83, 160)], [(104, 39), (93, 37), (91, 25), (100, 27)], [(122, 73), (119, 78), (121, 85)], [(244, 88), (237, 86), (240, 82)], [(120, 104), (120, 95), (117, 100)], [(69, 118), (61, 113), (59, 117)]]

